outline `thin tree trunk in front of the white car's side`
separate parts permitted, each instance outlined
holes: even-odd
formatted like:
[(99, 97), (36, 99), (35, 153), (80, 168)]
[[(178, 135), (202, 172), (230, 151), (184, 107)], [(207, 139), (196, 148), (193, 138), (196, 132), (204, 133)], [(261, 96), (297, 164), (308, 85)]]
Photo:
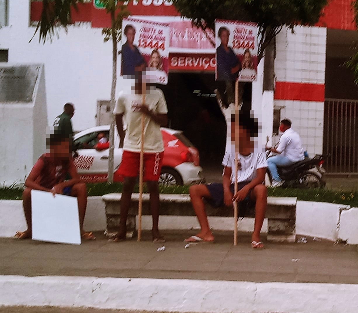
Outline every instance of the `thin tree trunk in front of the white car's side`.
[[(115, 6), (114, 6), (115, 8)], [(112, 88), (111, 88), (111, 128), (110, 128), (110, 151), (108, 158), (108, 183), (113, 183), (114, 170), (114, 133), (115, 133), (115, 116), (113, 110), (115, 107), (116, 84), (117, 84), (117, 33), (115, 27), (115, 9), (111, 11), (112, 21), (112, 43), (113, 43), (113, 68), (112, 68)]]

